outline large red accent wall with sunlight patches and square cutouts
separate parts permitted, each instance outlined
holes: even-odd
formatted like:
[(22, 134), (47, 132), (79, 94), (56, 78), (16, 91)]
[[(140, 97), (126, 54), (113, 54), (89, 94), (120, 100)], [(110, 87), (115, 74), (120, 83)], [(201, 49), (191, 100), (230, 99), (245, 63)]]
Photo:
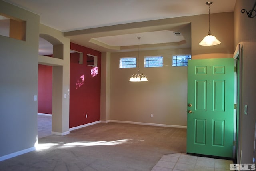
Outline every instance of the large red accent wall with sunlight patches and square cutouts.
[[(74, 43), (70, 49), (83, 53), (83, 64), (79, 64), (79, 53), (70, 54), (69, 127), (72, 128), (100, 120), (101, 52)], [(98, 57), (97, 68), (87, 66), (87, 54)]]

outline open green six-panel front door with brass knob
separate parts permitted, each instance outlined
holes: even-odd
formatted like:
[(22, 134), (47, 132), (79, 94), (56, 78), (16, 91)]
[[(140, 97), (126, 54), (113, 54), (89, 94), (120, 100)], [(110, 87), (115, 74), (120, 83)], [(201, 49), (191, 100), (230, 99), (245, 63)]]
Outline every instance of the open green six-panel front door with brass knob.
[(187, 153), (232, 158), (234, 59), (188, 62)]

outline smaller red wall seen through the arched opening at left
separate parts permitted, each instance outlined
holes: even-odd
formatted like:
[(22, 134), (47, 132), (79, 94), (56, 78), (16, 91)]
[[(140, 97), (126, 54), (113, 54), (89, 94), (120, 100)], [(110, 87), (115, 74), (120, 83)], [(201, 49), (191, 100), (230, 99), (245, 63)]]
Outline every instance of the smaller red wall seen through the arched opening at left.
[(38, 64), (38, 113), (52, 114), (52, 66)]

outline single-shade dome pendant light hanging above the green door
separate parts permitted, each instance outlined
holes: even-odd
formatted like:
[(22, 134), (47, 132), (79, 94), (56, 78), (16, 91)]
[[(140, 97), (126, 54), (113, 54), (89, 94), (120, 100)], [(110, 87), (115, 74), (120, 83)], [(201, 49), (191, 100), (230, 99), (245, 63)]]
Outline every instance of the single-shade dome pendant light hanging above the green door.
[(205, 36), (204, 39), (199, 44), (201, 46), (217, 45), (220, 44), (220, 41), (215, 36), (212, 36), (210, 30), (210, 4), (212, 4), (212, 2), (206, 2), (205, 4), (209, 6), (209, 32), (208, 35)]

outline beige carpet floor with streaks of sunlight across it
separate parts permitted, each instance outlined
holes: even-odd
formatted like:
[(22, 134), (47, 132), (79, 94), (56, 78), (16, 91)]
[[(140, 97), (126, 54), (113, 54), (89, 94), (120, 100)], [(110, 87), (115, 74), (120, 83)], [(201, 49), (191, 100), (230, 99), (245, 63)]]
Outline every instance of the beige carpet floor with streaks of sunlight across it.
[(150, 171), (163, 155), (186, 153), (186, 129), (98, 123), (50, 135), (36, 151), (0, 162), (1, 171)]

